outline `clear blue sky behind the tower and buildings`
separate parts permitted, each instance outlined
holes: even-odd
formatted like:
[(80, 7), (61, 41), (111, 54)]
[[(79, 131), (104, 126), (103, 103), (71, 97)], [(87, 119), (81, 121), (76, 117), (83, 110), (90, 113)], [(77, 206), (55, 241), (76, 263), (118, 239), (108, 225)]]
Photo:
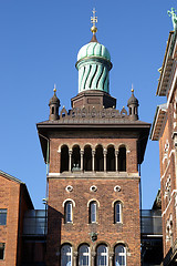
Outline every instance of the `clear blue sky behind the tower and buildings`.
[[(111, 94), (126, 106), (134, 84), (139, 119), (153, 123), (158, 69), (173, 30), (167, 10), (176, 0), (1, 0), (0, 1), (0, 168), (23, 181), (34, 206), (43, 208), (45, 164), (35, 123), (48, 120), (56, 84), (61, 105), (77, 94), (76, 55), (91, 38), (97, 13), (97, 40), (110, 51)], [(148, 141), (142, 165), (143, 207), (159, 187), (158, 142)]]

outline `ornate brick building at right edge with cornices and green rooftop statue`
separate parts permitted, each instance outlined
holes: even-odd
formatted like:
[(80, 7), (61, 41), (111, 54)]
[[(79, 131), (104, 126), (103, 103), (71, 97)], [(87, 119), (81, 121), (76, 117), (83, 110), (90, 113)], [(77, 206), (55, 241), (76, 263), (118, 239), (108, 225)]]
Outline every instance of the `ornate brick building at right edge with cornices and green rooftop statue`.
[(150, 133), (159, 141), (160, 187), (164, 265), (177, 263), (177, 17), (173, 18), (174, 31), (169, 32), (163, 66), (159, 70), (157, 95), (166, 103), (158, 105)]

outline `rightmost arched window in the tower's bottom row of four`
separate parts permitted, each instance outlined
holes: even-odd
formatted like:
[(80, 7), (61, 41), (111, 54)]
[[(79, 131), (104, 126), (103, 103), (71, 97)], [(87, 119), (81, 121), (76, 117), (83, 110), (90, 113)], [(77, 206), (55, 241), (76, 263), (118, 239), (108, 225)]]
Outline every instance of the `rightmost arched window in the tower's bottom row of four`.
[(115, 246), (114, 250), (114, 265), (126, 266), (126, 249), (123, 245)]

